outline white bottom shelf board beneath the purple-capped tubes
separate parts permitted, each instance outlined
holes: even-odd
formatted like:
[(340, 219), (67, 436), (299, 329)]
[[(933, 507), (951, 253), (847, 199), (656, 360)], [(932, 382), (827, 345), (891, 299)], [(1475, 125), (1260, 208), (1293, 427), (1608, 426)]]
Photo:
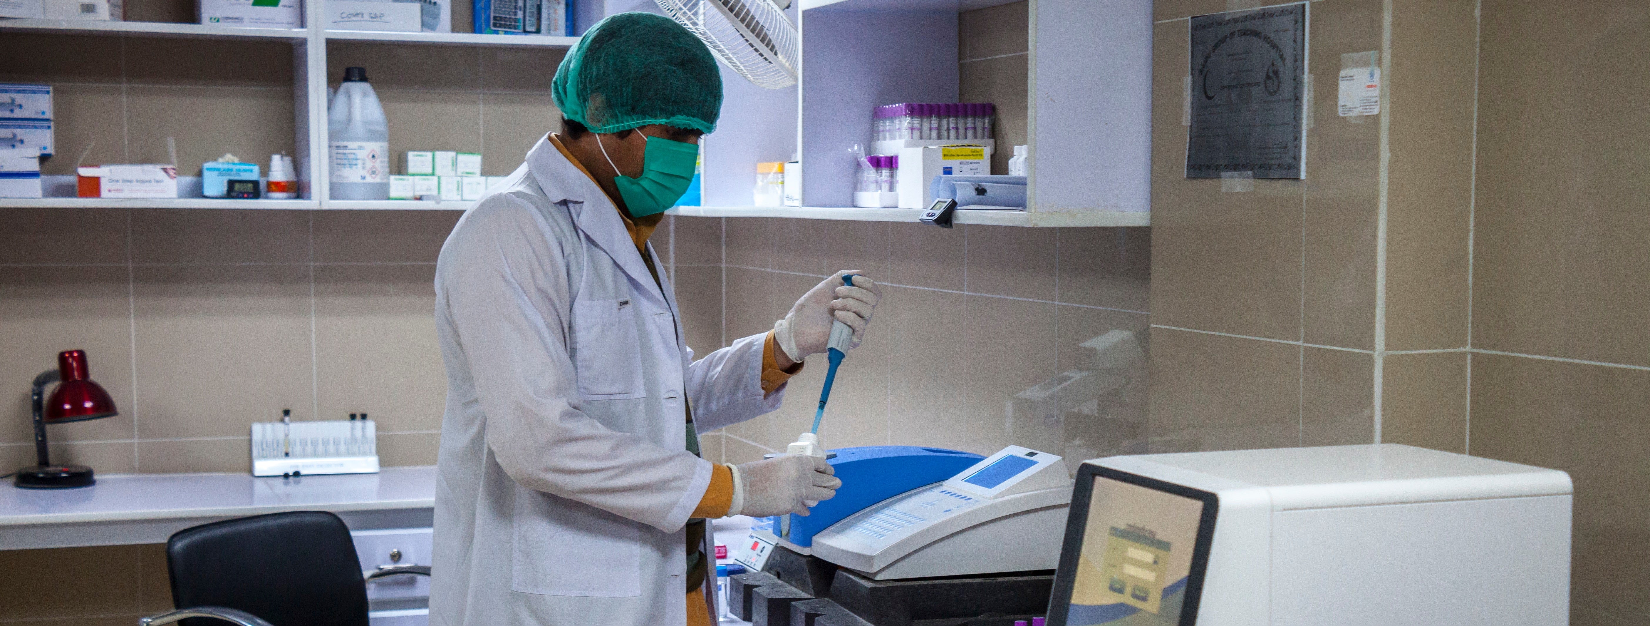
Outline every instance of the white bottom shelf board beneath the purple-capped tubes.
[[(858, 206), (676, 206), (670, 215), (693, 218), (794, 218), (794, 220), (846, 220), (846, 221), (917, 221), (921, 208), (858, 208)], [(1084, 213), (1028, 213), (1028, 211), (970, 211), (959, 210), (952, 216), (959, 225), (990, 226), (1150, 226), (1152, 213), (1145, 211), (1084, 211)]]

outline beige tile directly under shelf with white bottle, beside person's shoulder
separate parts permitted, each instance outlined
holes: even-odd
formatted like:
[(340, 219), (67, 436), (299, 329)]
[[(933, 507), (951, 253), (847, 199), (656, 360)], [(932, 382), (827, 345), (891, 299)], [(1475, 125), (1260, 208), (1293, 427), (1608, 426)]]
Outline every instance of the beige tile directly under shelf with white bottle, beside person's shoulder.
[(436, 263), (460, 211), (314, 211), (315, 263)]

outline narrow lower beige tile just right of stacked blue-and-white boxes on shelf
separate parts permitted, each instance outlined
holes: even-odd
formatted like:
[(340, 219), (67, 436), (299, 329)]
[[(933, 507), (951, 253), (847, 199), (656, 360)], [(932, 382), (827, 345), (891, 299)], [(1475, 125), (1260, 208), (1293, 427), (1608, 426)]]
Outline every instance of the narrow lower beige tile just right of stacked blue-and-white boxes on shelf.
[[(129, 162), (125, 94), (119, 84), (53, 84), (51, 116), (51, 140), (58, 142), (58, 154), (41, 160), (41, 175), (74, 175), (82, 152), (84, 165)], [(91, 152), (86, 152), (87, 147)]]

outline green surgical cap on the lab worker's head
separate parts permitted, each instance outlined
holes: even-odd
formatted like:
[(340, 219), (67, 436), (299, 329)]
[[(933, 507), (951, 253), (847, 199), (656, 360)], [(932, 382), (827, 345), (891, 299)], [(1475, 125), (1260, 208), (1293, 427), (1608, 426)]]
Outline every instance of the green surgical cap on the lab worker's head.
[(665, 124), (716, 130), (721, 71), (693, 33), (663, 15), (617, 13), (591, 26), (551, 83), (556, 107), (591, 132)]

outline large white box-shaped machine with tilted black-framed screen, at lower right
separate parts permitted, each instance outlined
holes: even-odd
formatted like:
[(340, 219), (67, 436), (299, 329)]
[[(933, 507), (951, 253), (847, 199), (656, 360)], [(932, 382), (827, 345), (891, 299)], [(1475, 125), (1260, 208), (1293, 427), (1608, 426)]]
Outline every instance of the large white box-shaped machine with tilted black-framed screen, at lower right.
[(1049, 626), (1569, 619), (1571, 481), (1399, 444), (1077, 471)]

